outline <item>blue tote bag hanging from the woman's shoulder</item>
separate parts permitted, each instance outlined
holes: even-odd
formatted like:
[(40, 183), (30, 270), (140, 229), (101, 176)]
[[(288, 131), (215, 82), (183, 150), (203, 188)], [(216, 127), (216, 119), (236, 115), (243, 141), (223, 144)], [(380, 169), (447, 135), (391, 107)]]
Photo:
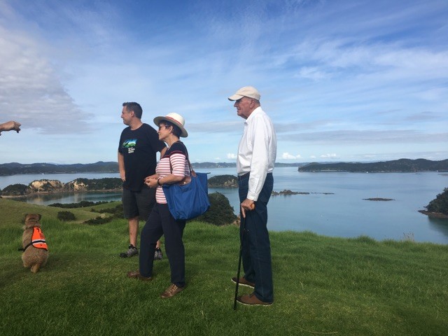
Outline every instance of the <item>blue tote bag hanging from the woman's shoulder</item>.
[(181, 182), (162, 186), (169, 212), (178, 220), (188, 220), (204, 214), (210, 208), (207, 173), (197, 173), (190, 166), (190, 176)]

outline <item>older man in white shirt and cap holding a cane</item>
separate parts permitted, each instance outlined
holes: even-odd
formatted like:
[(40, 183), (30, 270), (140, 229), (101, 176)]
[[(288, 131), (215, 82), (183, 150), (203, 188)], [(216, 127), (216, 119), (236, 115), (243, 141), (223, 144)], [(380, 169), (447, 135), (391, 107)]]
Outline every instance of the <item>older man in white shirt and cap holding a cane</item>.
[[(261, 109), (260, 93), (255, 87), (241, 87), (228, 99), (235, 101), (238, 116), (246, 120), (237, 158), (240, 210), (246, 227), (243, 230), (240, 225), (244, 276), (239, 279), (239, 284), (254, 289), (253, 293), (237, 300), (243, 304), (272, 304), (274, 289), (267, 202), (274, 186), (275, 130), (272, 120)], [(237, 278), (232, 281), (237, 282)]]

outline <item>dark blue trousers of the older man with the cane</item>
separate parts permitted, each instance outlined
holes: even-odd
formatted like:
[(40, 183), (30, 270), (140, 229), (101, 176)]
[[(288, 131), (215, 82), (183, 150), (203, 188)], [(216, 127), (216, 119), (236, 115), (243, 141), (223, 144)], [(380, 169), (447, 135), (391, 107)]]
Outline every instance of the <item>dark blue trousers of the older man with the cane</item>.
[[(246, 200), (248, 192), (248, 174), (238, 181), (239, 200)], [(274, 188), (272, 174), (267, 174), (265, 184), (255, 202), (253, 211), (246, 211), (246, 231), (240, 225), (240, 239), (243, 241), (244, 278), (255, 283), (254, 294), (263, 302), (274, 301), (272, 283), (271, 244), (267, 232), (267, 202)], [(241, 221), (243, 221), (241, 215)], [(242, 222), (241, 222), (242, 223)]]

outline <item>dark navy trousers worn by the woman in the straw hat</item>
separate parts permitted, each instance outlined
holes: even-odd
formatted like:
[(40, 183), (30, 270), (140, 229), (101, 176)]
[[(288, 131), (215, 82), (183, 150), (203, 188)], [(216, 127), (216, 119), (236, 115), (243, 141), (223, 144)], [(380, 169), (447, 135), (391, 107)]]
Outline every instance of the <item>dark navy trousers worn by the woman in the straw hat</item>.
[(168, 204), (155, 204), (140, 235), (141, 275), (153, 276), (155, 244), (163, 235), (165, 252), (171, 269), (171, 282), (178, 287), (185, 286), (185, 248), (182, 241), (185, 225), (186, 221), (174, 219), (169, 212)]

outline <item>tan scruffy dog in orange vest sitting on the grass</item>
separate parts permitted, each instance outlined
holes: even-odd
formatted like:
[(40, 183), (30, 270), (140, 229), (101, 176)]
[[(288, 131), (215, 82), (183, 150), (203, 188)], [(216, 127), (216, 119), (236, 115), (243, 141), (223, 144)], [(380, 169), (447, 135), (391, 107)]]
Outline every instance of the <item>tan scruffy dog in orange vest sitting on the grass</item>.
[(37, 273), (48, 260), (48, 246), (41, 230), (41, 215), (26, 214), (23, 227), (22, 253), (23, 266)]

